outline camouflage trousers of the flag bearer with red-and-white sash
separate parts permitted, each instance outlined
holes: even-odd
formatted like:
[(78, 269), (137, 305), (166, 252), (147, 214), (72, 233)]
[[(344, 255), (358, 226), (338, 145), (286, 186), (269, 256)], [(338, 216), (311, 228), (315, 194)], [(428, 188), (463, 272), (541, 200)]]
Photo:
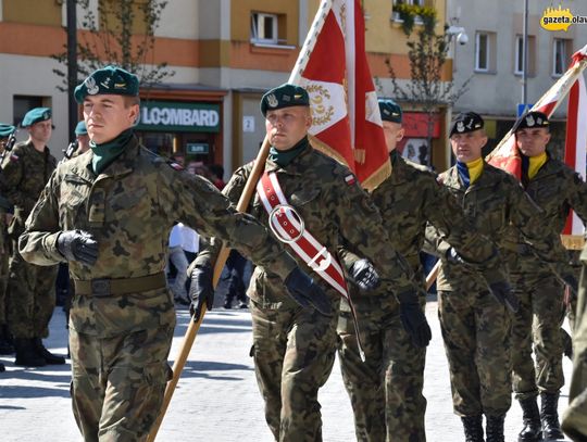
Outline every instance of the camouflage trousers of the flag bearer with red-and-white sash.
[(251, 301), (257, 382), (279, 442), (322, 441), (319, 389), (333, 369), (337, 316), (309, 308), (260, 308)]

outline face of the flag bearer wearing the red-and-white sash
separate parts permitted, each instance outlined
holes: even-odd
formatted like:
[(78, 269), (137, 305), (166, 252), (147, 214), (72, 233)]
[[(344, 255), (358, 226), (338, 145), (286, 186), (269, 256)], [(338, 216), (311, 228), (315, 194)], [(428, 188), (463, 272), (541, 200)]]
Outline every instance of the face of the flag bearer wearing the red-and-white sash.
[(265, 115), (265, 129), (271, 146), (277, 150), (291, 149), (308, 134), (312, 126), (310, 109), (305, 106), (291, 106), (267, 111)]

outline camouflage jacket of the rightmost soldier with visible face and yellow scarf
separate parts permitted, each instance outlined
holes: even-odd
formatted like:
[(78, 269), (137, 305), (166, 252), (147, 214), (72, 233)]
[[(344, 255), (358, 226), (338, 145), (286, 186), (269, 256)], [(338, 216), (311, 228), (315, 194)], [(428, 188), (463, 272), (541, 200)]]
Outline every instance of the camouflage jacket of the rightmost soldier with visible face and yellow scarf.
[[(575, 171), (550, 155), (529, 180), (526, 193), (544, 211), (542, 225), (554, 235), (560, 235), (563, 230), (571, 209), (584, 223), (587, 220), (587, 184)], [(517, 260), (512, 268), (522, 273), (548, 271), (545, 264), (536, 262), (534, 253), (516, 231), (511, 232), (510, 238), (508, 247), (517, 252)]]

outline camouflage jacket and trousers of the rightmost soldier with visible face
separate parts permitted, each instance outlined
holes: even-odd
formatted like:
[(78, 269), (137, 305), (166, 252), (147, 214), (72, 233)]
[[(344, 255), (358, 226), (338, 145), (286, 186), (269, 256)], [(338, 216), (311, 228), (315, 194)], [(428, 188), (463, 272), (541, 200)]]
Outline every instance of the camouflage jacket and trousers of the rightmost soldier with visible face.
[[(526, 193), (542, 210), (547, 231), (561, 233), (571, 209), (587, 219), (587, 184), (564, 163), (551, 159), (540, 167), (526, 186)], [(560, 242), (560, 241), (559, 241)], [(538, 393), (558, 393), (564, 384), (563, 344), (559, 332), (564, 319), (564, 286), (550, 268), (536, 260), (520, 237), (511, 235), (517, 248), (512, 260), (512, 283), (521, 300), (513, 324), (513, 390), (516, 399)], [(567, 253), (566, 260), (572, 261)], [(578, 280), (579, 269), (575, 271)], [(534, 326), (533, 326), (534, 324)], [(536, 369), (532, 358), (536, 357)]]

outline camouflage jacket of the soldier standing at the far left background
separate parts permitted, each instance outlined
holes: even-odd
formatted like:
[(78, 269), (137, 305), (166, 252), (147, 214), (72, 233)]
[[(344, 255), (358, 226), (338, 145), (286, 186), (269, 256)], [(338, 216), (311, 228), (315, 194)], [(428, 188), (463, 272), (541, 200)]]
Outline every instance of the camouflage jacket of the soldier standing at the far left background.
[(14, 205), (14, 217), (9, 233), (17, 238), (24, 230), (26, 217), (33, 210), (49, 177), (57, 166), (57, 160), (46, 147), (39, 152), (33, 142), (20, 142), (7, 153), (0, 174), (0, 189), (3, 197)]

